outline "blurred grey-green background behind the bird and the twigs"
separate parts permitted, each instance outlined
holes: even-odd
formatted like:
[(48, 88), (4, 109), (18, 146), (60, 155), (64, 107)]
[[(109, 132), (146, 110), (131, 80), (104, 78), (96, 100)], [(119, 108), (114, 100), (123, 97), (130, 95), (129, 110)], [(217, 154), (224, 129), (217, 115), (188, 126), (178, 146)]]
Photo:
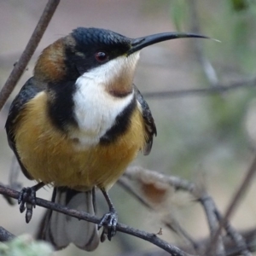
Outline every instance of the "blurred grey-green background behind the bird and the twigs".
[[(0, 86), (9, 76), (15, 61), (25, 48), (46, 0), (0, 1)], [(15, 92), (0, 113), (0, 181), (8, 183), (12, 152), (4, 124), (9, 105), (32, 70), (38, 55), (57, 38), (77, 26), (108, 28), (137, 38), (157, 32), (200, 32), (221, 41), (177, 39), (143, 49), (135, 84), (148, 102), (158, 135), (149, 156), (139, 154), (132, 166), (175, 175), (193, 183), (204, 183), (219, 210), (224, 212), (253, 160), (256, 147), (255, 86), (247, 86), (256, 77), (256, 3), (250, 0), (61, 0), (44, 38), (32, 57)], [(161, 97), (148, 94), (170, 90), (206, 89), (232, 86), (236, 90), (205, 94), (172, 94)], [(31, 186), (20, 174), (20, 182)], [(256, 226), (256, 185), (253, 183), (239, 209), (231, 218), (238, 230)], [(50, 189), (39, 197), (49, 199)], [(157, 233), (179, 244), (179, 237), (160, 223), (159, 214), (150, 212), (124, 189), (114, 185), (110, 196), (119, 212), (119, 222), (139, 230)], [(106, 212), (107, 206), (101, 203)], [(43, 210), (37, 207), (30, 224), (17, 206), (10, 207), (0, 196), (0, 225), (20, 235), (33, 234)], [(186, 193), (170, 192), (158, 213), (170, 213), (191, 236), (208, 235), (205, 214)], [(100, 215), (99, 215), (100, 216)], [(140, 239), (118, 233), (95, 252), (84, 253), (70, 246), (55, 255), (122, 255), (129, 251), (147, 251), (155, 247)]]

